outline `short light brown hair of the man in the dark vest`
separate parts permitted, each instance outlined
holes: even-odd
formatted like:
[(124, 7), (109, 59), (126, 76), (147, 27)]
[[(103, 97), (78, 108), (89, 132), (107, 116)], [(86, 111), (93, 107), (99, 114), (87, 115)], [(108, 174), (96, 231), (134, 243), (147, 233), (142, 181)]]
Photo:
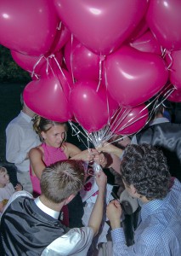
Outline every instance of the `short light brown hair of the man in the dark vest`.
[(59, 203), (70, 195), (76, 195), (84, 184), (84, 167), (81, 160), (62, 160), (48, 166), (42, 172), (42, 195)]

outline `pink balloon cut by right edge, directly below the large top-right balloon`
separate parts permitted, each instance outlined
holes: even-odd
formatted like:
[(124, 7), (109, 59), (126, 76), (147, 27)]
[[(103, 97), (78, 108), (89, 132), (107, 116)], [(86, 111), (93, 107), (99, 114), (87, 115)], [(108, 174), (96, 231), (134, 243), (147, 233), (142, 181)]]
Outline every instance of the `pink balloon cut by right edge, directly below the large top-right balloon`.
[(172, 53), (166, 55), (167, 65), (170, 67), (169, 79), (176, 88), (181, 89), (181, 50), (172, 51)]

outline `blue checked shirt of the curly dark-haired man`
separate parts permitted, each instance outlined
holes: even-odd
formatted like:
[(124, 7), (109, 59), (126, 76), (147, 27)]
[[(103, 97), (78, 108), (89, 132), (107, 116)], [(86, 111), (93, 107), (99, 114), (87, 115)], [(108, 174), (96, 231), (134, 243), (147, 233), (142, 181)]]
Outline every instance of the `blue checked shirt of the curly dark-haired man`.
[(122, 228), (111, 231), (113, 256), (181, 255), (181, 183), (178, 179), (175, 178), (163, 200), (144, 204), (140, 214), (133, 246), (127, 247)]

